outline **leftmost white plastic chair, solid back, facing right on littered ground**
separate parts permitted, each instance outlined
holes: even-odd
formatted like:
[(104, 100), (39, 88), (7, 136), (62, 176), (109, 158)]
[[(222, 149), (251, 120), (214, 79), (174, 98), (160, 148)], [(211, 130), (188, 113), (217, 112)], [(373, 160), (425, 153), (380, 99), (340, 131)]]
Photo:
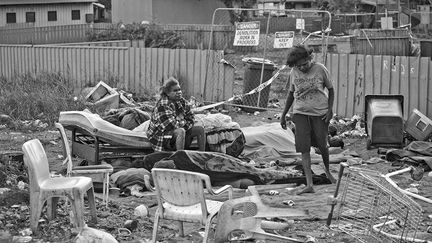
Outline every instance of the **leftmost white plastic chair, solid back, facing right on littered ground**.
[(23, 144), (24, 163), (28, 168), (30, 188), (30, 228), (37, 231), (42, 207), (47, 202), (48, 219), (56, 216), (59, 197), (67, 197), (71, 203), (74, 224), (84, 227), (84, 193), (87, 192), (93, 221), (97, 221), (93, 183), (89, 177), (50, 177), (48, 158), (38, 139)]

